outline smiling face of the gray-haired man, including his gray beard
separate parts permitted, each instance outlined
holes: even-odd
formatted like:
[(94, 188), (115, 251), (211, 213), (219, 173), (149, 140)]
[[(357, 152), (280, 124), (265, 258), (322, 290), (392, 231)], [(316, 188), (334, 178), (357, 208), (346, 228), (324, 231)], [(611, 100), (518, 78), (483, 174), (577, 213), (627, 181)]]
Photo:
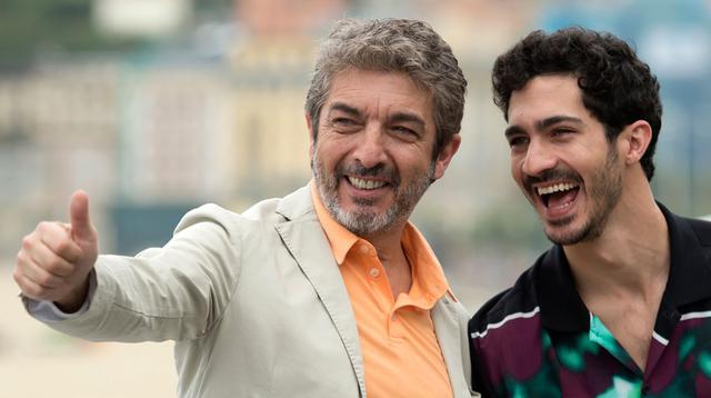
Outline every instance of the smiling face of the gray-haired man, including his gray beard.
[(333, 78), (309, 125), (318, 122), (316, 183), (337, 221), (360, 236), (407, 221), (459, 146), (457, 136), (432, 161), (432, 112), (431, 94), (404, 73), (347, 69)]

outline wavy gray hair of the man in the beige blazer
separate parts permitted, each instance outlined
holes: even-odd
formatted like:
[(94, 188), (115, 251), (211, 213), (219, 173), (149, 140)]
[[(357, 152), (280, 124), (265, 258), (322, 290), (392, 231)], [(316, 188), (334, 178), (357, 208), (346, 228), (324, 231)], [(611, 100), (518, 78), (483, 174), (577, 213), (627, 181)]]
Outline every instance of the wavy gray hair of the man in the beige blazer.
[(432, 94), (437, 128), (432, 159), (461, 129), (467, 80), (450, 46), (428, 23), (346, 19), (336, 23), (317, 56), (306, 101), (313, 142), (331, 81), (348, 68), (404, 72)]

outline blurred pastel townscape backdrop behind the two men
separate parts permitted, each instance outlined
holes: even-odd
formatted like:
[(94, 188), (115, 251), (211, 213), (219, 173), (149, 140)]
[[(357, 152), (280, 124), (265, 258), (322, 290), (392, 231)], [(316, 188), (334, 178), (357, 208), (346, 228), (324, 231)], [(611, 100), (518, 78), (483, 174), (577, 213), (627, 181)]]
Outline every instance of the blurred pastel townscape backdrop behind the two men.
[(66, 219), (78, 188), (102, 250), (134, 253), (199, 203), (241, 211), (304, 185), (306, 90), (318, 40), (341, 17), (424, 19), (461, 61), (462, 146), (414, 219), (468, 291), (510, 285), (548, 245), (511, 181), (489, 78), (532, 29), (582, 24), (639, 49), (664, 97), (655, 192), (681, 213), (711, 211), (708, 1), (58, 0), (4, 11), (0, 258), (37, 221)]

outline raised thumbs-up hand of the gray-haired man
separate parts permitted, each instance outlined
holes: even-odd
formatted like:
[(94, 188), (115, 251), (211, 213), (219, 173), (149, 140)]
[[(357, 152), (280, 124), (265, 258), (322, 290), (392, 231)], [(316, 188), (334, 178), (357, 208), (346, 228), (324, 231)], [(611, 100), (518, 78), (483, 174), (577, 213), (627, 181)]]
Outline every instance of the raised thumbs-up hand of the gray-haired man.
[(22, 239), (13, 278), (24, 296), (74, 312), (87, 298), (89, 272), (98, 256), (87, 192), (71, 196), (69, 217), (70, 223), (42, 221)]

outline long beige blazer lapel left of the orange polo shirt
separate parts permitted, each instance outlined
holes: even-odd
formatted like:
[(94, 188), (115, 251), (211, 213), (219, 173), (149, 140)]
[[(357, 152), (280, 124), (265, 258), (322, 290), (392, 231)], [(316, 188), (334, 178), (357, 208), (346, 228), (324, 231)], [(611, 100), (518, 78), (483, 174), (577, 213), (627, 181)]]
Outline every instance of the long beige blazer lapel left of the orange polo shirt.
[(277, 231), (331, 317), (353, 366), (360, 395), (365, 397), (365, 378), (356, 316), (338, 263), (313, 210), (309, 188), (301, 188), (286, 197), (277, 212), (288, 219), (277, 225)]

